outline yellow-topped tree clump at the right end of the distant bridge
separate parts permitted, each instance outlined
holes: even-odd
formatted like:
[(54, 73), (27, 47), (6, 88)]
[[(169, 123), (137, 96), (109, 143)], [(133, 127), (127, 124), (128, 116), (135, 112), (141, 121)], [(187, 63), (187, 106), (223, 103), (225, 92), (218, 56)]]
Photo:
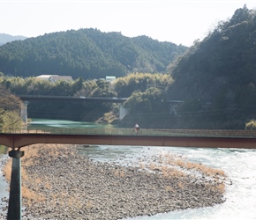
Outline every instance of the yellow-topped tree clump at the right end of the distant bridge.
[(117, 79), (118, 97), (127, 95), (129, 99), (124, 102), (124, 107), (130, 109), (130, 113), (120, 121), (120, 126), (133, 127), (139, 123), (141, 128), (172, 128), (175, 121), (169, 114), (165, 91), (170, 82), (172, 78), (162, 74), (133, 73)]

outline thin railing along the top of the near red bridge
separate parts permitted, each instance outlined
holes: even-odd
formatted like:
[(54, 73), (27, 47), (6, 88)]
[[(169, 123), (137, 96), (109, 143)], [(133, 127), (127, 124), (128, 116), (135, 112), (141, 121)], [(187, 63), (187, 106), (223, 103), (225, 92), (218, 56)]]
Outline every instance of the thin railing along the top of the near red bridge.
[[(102, 135), (134, 136), (133, 128), (24, 128), (9, 129), (3, 133), (20, 134), (62, 134), (62, 135)], [(254, 130), (217, 130), (217, 129), (143, 129), (139, 136), (206, 136), (206, 137), (256, 137)]]

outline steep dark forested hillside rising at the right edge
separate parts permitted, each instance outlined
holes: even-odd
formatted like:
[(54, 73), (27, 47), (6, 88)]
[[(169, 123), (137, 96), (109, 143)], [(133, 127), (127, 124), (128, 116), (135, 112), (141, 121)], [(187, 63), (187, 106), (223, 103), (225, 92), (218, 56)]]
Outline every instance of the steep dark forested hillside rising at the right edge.
[(237, 9), (169, 72), (169, 99), (184, 100), (178, 109), (183, 125), (245, 128), (256, 118), (256, 11)]

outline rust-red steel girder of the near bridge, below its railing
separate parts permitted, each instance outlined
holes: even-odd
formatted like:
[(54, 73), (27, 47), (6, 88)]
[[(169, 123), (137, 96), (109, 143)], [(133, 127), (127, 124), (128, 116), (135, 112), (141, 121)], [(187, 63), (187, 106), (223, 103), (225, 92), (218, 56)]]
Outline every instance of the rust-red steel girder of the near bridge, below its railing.
[(255, 137), (0, 134), (0, 144), (11, 149), (35, 143), (256, 149)]

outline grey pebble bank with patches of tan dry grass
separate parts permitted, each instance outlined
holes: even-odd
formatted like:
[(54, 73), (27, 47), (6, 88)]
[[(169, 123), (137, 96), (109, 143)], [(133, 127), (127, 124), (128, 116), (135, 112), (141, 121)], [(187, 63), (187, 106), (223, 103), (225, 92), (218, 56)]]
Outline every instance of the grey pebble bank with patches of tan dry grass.
[(94, 162), (79, 155), (78, 146), (24, 150), (23, 219), (114, 220), (224, 202), (224, 174), (180, 158), (125, 166)]

